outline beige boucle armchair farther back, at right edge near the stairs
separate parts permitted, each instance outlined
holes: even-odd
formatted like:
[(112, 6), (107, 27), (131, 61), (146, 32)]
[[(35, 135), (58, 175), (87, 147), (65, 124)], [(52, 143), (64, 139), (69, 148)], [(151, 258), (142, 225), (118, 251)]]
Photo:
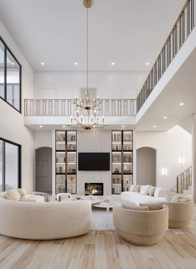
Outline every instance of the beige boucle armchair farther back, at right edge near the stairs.
[(186, 228), (193, 219), (194, 201), (189, 202), (164, 202), (169, 208), (169, 227)]

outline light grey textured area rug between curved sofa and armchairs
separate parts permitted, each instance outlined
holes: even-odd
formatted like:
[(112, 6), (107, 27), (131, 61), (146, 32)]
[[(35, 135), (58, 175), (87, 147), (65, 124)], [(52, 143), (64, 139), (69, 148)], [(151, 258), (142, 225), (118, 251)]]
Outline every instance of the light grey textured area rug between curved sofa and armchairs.
[[(119, 203), (120, 201), (118, 201)], [(122, 202), (121, 202), (122, 203)], [(124, 203), (123, 203), (124, 204)], [(127, 203), (130, 205), (130, 203)], [(107, 213), (106, 208), (92, 206), (92, 226), (90, 231), (116, 231), (113, 225), (112, 208)], [(169, 228), (169, 232), (175, 231), (188, 231), (187, 228), (175, 229)]]

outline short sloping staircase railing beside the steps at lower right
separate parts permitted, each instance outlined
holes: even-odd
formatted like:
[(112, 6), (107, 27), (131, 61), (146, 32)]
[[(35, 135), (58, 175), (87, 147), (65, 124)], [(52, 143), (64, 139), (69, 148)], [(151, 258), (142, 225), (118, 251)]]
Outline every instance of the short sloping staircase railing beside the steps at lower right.
[(176, 176), (176, 180), (177, 193), (183, 194), (184, 190), (189, 190), (189, 186), (192, 186), (192, 166)]

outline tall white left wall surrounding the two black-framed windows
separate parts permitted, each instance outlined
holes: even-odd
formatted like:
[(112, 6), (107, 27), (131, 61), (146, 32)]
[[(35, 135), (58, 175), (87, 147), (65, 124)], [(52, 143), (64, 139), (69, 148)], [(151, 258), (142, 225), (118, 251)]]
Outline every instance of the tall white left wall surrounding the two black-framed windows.
[(35, 190), (34, 132), (24, 125), (24, 99), (34, 97), (34, 72), (0, 19), (0, 35), (22, 66), (22, 114), (0, 99), (0, 137), (21, 145), (21, 187)]

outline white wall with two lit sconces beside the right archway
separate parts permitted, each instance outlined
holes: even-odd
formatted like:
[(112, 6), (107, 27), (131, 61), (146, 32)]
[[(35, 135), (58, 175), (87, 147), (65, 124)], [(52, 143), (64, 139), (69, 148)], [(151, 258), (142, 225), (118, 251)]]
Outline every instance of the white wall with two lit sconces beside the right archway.
[(141, 147), (156, 149), (156, 187), (176, 188), (176, 176), (192, 165), (192, 136), (178, 125), (166, 132), (136, 132), (136, 148)]

